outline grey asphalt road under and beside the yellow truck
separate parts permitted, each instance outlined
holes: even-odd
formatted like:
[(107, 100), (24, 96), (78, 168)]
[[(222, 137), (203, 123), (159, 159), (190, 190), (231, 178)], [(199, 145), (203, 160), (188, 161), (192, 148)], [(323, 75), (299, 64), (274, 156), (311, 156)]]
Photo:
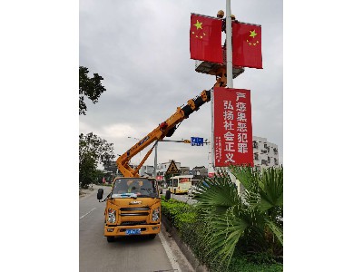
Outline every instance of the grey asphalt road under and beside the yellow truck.
[[(110, 192), (104, 187), (103, 196)], [(193, 271), (175, 248), (167, 233), (154, 239), (137, 237), (117, 238), (108, 243), (103, 237), (105, 202), (98, 202), (97, 189), (80, 198), (79, 202), (79, 271)]]

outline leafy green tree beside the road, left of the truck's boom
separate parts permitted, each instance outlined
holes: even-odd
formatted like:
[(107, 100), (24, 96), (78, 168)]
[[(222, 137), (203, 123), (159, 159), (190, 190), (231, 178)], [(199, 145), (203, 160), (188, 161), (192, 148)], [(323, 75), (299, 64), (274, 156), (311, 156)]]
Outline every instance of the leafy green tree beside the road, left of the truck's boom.
[(113, 143), (108, 143), (90, 132), (79, 135), (79, 182), (83, 188), (99, 180), (99, 163), (107, 163), (114, 159)]

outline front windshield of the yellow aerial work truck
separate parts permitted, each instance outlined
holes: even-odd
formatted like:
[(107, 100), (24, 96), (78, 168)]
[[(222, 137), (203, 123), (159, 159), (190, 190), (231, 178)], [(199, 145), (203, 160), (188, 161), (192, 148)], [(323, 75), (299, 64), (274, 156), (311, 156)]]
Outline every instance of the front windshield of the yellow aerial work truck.
[(154, 180), (129, 178), (117, 179), (113, 184), (113, 198), (155, 198), (157, 192)]

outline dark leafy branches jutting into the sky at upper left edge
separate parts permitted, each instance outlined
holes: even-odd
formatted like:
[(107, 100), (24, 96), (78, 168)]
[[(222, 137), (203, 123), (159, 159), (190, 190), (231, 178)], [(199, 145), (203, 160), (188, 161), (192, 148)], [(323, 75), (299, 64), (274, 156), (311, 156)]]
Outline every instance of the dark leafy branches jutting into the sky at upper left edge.
[(106, 91), (101, 81), (103, 81), (103, 77), (98, 73), (93, 73), (93, 77), (88, 77), (88, 68), (79, 67), (79, 115), (85, 115), (87, 111), (84, 96), (95, 104), (101, 94)]

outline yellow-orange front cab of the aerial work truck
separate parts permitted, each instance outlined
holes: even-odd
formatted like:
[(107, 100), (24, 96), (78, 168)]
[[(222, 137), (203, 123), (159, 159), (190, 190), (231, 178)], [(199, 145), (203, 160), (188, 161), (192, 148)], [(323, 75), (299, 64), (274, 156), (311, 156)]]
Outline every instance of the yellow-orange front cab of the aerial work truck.
[[(97, 199), (103, 199), (103, 189)], [(162, 200), (155, 179), (116, 177), (105, 201), (104, 236), (108, 242), (131, 235), (155, 238), (160, 232)]]

